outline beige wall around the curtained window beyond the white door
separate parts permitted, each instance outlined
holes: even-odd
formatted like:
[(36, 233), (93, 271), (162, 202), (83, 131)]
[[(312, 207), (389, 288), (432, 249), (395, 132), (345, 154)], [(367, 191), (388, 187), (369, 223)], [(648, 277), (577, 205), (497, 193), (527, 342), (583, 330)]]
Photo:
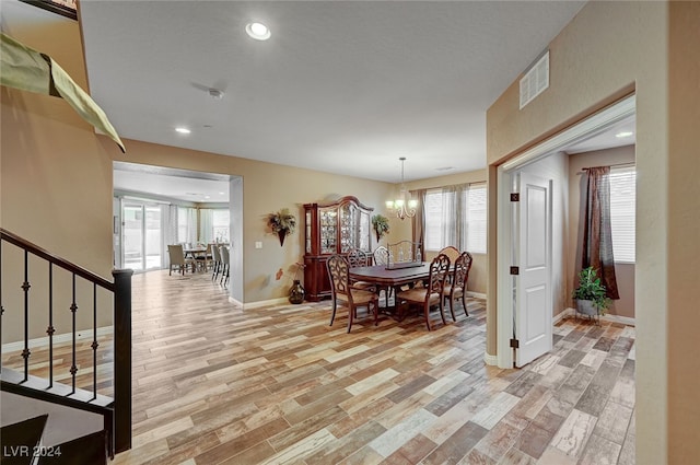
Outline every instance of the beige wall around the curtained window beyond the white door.
[[(585, 176), (582, 170), (588, 166), (604, 166), (620, 163), (634, 163), (634, 146), (615, 149), (596, 150), (576, 153), (569, 156), (569, 265), (567, 270), (568, 292), (571, 295), (575, 286), (576, 274), (581, 270), (581, 253), (583, 246), (584, 207), (581, 193), (585, 191)], [(634, 264), (615, 264), (615, 275), (620, 299), (612, 301), (610, 315), (634, 317)], [(573, 303), (572, 303), (573, 304)]]

